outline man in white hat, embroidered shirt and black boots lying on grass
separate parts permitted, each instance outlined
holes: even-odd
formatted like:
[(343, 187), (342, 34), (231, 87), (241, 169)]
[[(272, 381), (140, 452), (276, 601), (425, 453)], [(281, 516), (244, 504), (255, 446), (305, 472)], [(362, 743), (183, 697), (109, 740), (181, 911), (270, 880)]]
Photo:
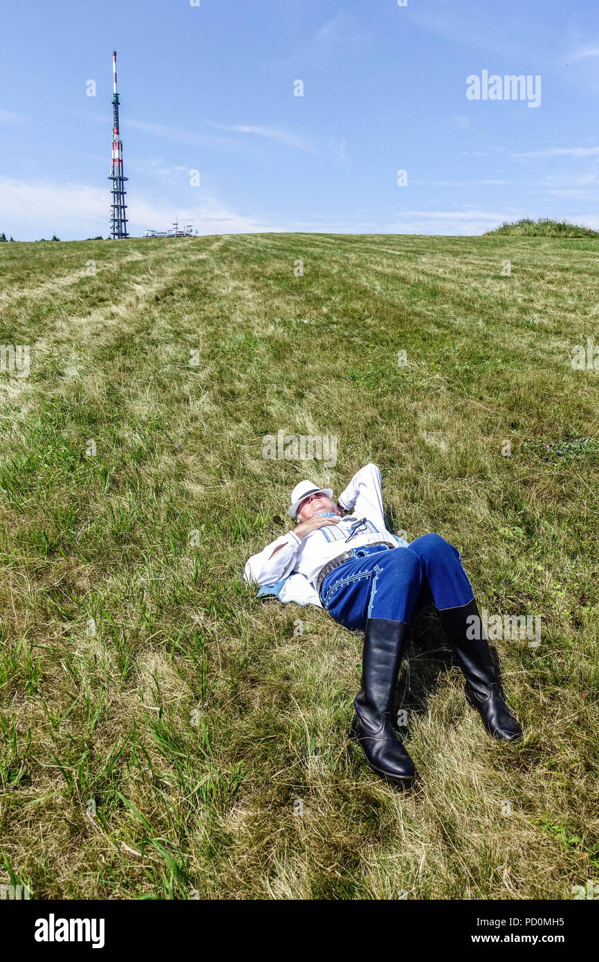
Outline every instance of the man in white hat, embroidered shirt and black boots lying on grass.
[(362, 688), (354, 699), (351, 736), (369, 766), (399, 785), (412, 783), (412, 759), (392, 721), (393, 700), (406, 628), (430, 604), (460, 660), (466, 697), (487, 732), (519, 741), (522, 729), (504, 700), (458, 549), (437, 534), (398, 544), (385, 526), (376, 465), (354, 475), (337, 505), (332, 497), (330, 488), (301, 481), (288, 511), (297, 527), (250, 558), (244, 579), (275, 585), (299, 572), (336, 621), (365, 632)]

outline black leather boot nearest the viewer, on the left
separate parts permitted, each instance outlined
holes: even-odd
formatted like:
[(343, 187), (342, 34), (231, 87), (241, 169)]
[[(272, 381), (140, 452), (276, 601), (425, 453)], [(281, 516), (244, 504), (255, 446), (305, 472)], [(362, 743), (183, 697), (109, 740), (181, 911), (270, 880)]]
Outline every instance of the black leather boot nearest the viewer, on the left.
[(403, 787), (412, 784), (414, 767), (392, 720), (406, 627), (403, 621), (385, 618), (366, 621), (362, 689), (354, 698), (356, 714), (351, 727), (370, 768)]

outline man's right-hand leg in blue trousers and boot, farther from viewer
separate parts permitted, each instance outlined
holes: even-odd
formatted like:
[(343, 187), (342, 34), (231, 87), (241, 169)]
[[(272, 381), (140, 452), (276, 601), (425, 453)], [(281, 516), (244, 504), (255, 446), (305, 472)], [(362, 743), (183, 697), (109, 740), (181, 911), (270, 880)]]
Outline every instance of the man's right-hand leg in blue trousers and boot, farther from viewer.
[[(460, 659), (466, 696), (481, 715), (489, 735), (507, 742), (519, 741), (522, 729), (505, 702), (460, 552), (437, 534), (416, 538), (408, 550), (417, 555), (425, 571), (425, 583), (414, 610), (419, 611), (427, 602), (437, 608), (449, 643)], [(477, 627), (480, 630), (476, 631)]]

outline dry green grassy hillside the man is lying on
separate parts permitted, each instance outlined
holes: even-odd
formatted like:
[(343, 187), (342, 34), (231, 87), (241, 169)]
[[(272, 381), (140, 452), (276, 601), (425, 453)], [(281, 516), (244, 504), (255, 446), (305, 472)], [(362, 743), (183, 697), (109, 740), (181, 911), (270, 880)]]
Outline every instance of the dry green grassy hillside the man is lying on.
[[(0, 269), (0, 341), (31, 346), (28, 377), (0, 373), (0, 883), (570, 899), (599, 878), (599, 372), (570, 364), (599, 343), (599, 241), (18, 243)], [(337, 436), (337, 464), (264, 460), (281, 429)], [(519, 747), (414, 622), (405, 796), (348, 746), (362, 636), (241, 580), (298, 480), (337, 496), (369, 461), (389, 523), (456, 544), (481, 609), (542, 619), (540, 646), (493, 643)]]

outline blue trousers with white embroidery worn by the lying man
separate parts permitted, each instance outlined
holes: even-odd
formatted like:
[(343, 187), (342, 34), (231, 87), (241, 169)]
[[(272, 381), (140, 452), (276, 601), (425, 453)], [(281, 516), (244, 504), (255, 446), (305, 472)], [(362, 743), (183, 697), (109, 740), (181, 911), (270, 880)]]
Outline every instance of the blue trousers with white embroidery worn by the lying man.
[(409, 547), (367, 544), (352, 555), (320, 586), (324, 608), (346, 628), (363, 630), (368, 618), (410, 624), (429, 604), (459, 608), (474, 597), (458, 548), (440, 535), (422, 535)]

